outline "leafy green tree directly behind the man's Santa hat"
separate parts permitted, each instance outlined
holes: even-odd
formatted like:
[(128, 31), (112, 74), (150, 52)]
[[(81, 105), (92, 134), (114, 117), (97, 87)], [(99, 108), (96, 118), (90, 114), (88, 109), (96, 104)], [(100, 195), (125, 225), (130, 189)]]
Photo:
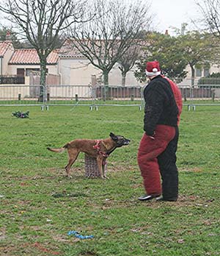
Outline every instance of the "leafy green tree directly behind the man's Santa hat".
[(167, 77), (175, 79), (186, 77), (187, 63), (182, 52), (178, 50), (177, 38), (158, 32), (150, 32), (145, 40), (147, 46), (144, 47), (144, 54), (137, 63), (136, 79), (139, 79), (140, 82), (146, 81), (146, 62), (152, 60), (158, 60), (163, 74)]

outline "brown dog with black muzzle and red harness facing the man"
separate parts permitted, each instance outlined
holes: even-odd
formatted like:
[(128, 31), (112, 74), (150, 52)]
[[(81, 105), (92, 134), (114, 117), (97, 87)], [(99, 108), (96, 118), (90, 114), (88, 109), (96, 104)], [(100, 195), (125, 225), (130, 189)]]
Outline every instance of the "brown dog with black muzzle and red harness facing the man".
[(114, 149), (128, 145), (129, 143), (130, 140), (124, 138), (121, 135), (114, 135), (114, 133), (111, 132), (110, 138), (106, 138), (104, 140), (78, 139), (66, 143), (65, 146), (62, 146), (62, 148), (59, 149), (47, 149), (58, 153), (64, 152), (65, 149), (67, 149), (69, 154), (69, 162), (67, 166), (65, 166), (67, 177), (70, 177), (70, 167), (76, 161), (76, 158), (80, 152), (84, 152), (90, 157), (95, 157), (98, 163), (100, 177), (103, 179), (106, 178), (104, 171), (106, 158), (109, 157), (109, 154), (111, 154)]

